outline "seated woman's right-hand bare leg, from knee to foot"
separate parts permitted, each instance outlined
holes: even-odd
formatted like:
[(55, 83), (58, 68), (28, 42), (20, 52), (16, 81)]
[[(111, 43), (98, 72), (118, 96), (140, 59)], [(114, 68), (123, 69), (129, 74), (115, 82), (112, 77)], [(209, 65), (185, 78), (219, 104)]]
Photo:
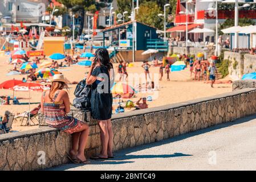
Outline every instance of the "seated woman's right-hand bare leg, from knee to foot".
[(81, 129), (78, 131), (80, 133), (80, 137), (79, 137), (78, 154), (76, 155), (76, 158), (82, 161), (86, 161), (86, 156), (84, 156), (84, 149), (86, 148), (89, 131), (90, 131), (90, 128), (86, 124), (83, 124)]

